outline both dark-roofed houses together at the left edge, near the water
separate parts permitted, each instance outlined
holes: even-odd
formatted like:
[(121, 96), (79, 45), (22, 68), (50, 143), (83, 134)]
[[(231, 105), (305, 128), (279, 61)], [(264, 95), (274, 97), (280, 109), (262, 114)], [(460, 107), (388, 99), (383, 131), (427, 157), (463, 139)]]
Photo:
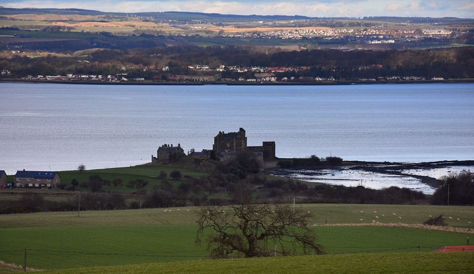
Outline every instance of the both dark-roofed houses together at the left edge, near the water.
[(0, 188), (56, 188), (61, 183), (58, 171), (16, 171), (13, 183), (7, 182), (5, 171), (0, 171)]

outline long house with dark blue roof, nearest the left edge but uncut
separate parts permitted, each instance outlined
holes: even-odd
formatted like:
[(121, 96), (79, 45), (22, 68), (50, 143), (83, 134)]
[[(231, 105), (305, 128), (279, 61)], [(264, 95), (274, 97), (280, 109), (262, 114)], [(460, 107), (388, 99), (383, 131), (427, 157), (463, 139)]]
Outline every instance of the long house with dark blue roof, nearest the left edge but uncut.
[(28, 188), (55, 188), (61, 183), (57, 171), (16, 171), (15, 184)]

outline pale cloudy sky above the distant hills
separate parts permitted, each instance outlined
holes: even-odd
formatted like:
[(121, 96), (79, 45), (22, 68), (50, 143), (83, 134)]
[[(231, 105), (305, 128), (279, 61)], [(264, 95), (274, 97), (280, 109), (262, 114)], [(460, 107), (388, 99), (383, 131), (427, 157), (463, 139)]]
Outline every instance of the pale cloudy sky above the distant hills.
[(195, 11), (312, 17), (474, 18), (474, 0), (0, 0), (4, 7), (82, 8), (110, 12)]

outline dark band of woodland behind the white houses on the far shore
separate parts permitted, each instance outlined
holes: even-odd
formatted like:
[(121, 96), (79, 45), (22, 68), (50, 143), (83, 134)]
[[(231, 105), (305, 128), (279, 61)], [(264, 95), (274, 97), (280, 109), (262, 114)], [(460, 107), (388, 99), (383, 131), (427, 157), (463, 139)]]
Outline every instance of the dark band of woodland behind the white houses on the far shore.
[[(81, 57), (82, 58), (82, 57)], [(78, 62), (87, 61), (87, 62)], [(155, 47), (130, 50), (103, 49), (88, 57), (58, 58), (53, 55), (29, 58), (1, 58), (0, 68), (11, 71), (9, 77), (27, 75), (96, 74), (127, 72), (129, 77), (165, 80), (170, 75), (209, 74), (216, 71), (196, 71), (189, 65), (205, 64), (237, 67), (301, 67), (310, 69), (277, 73), (278, 77), (363, 77), (418, 76), (432, 78), (474, 78), (474, 49), (450, 48), (438, 50), (305, 50), (265, 52), (252, 47)], [(169, 71), (162, 71), (167, 66)], [(154, 67), (154, 68), (153, 68)], [(225, 70), (222, 77), (250, 77), (252, 73)]]

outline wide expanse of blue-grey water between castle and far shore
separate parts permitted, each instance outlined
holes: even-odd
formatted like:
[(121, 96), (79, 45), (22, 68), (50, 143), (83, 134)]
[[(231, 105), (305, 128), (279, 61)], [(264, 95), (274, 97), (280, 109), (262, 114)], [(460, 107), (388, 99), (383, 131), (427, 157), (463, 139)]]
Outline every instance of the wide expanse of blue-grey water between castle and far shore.
[(150, 162), (163, 143), (219, 131), (276, 141), (278, 157), (471, 160), (474, 84), (105, 86), (0, 83), (0, 170)]

